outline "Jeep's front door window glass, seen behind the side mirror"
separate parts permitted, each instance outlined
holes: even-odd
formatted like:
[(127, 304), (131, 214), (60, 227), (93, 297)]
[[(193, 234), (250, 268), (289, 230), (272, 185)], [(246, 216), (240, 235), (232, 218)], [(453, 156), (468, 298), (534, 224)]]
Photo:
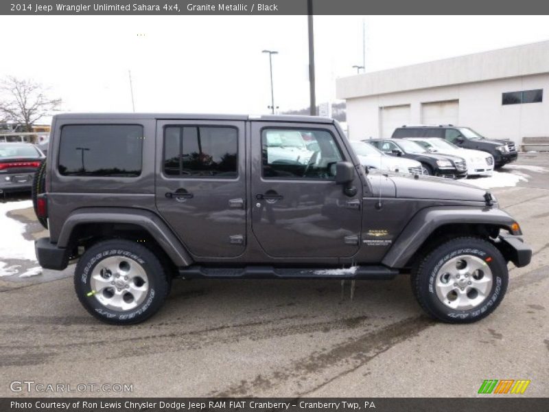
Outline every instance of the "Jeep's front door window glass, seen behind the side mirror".
[(333, 180), (342, 155), (327, 130), (266, 128), (261, 159), (265, 178)]

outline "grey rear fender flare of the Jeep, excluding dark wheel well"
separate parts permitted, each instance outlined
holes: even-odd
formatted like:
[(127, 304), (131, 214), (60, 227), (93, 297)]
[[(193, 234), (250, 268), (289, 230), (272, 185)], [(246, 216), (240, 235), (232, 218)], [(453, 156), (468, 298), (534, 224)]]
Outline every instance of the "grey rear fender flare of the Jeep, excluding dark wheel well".
[(166, 223), (152, 211), (123, 207), (83, 207), (73, 211), (61, 229), (57, 245), (69, 246), (71, 234), (78, 225), (93, 223), (128, 223), (142, 227), (159, 243), (176, 266), (193, 263), (189, 253)]

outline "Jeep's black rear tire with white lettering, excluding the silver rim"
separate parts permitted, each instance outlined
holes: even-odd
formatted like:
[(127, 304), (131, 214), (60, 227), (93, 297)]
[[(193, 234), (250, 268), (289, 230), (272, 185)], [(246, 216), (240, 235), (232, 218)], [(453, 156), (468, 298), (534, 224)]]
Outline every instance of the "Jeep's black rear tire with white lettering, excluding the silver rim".
[[(144, 301), (131, 310), (113, 310), (102, 304), (92, 290), (91, 275), (97, 264), (110, 257), (122, 257), (137, 262), (148, 278)], [(90, 247), (80, 257), (74, 273), (74, 286), (80, 303), (97, 319), (116, 325), (140, 323), (151, 317), (163, 305), (170, 292), (171, 278), (159, 258), (142, 244), (131, 240), (104, 240)]]

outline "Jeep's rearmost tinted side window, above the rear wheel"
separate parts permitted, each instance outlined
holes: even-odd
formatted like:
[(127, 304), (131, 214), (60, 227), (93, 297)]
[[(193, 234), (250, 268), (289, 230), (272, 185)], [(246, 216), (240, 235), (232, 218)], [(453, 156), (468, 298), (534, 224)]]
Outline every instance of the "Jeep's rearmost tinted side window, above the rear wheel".
[(61, 130), (59, 172), (64, 176), (141, 174), (143, 126), (69, 124)]

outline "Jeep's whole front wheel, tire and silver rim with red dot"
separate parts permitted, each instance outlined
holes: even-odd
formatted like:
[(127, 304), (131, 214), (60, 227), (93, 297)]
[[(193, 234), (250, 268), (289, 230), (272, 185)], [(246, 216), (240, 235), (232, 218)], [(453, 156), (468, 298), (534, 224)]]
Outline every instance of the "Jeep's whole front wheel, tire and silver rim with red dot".
[(425, 256), (411, 280), (425, 312), (447, 323), (471, 323), (498, 307), (509, 273), (502, 254), (487, 240), (456, 238)]

